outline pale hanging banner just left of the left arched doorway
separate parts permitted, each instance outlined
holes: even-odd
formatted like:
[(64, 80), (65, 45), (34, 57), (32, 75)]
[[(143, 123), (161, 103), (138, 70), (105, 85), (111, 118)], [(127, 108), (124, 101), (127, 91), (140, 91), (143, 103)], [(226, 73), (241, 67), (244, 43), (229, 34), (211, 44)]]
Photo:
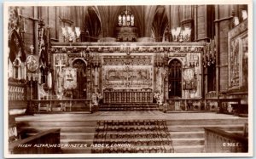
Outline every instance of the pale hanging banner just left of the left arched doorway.
[(77, 69), (72, 67), (63, 68), (64, 72), (64, 88), (77, 88)]

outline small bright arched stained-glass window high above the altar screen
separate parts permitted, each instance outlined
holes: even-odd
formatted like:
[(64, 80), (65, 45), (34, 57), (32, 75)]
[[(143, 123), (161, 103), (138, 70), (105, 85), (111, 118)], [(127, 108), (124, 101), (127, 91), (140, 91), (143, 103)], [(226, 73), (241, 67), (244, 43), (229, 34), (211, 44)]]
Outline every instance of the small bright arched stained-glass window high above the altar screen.
[(123, 11), (119, 14), (119, 26), (134, 26), (134, 15), (130, 11)]

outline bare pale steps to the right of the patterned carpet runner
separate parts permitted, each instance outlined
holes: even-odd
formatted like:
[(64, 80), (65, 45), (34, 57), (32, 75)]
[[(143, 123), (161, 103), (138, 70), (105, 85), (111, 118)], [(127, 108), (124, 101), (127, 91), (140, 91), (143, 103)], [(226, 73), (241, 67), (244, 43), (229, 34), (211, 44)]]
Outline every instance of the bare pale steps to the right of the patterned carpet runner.
[(242, 133), (247, 119), (194, 119), (167, 121), (175, 153), (203, 153), (204, 128), (221, 128), (230, 133)]

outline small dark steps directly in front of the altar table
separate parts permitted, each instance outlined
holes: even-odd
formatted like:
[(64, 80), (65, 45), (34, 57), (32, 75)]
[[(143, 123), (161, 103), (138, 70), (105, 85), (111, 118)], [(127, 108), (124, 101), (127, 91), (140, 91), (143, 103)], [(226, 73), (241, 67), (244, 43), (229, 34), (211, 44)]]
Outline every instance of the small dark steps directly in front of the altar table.
[(100, 105), (99, 111), (159, 111), (159, 106), (156, 104), (114, 104), (114, 105)]

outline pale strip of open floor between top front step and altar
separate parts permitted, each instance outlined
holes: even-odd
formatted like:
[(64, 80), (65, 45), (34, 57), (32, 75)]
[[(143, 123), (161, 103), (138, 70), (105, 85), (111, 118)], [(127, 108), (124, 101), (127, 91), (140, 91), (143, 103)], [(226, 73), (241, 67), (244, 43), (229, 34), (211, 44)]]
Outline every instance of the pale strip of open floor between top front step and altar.
[(241, 117), (219, 114), (217, 112), (169, 112), (162, 111), (97, 111), (92, 114), (83, 112), (69, 112), (57, 114), (35, 114), (34, 116), (20, 116), (16, 121), (21, 120), (42, 120), (42, 121), (84, 121), (96, 120), (186, 120), (186, 119), (239, 119)]

